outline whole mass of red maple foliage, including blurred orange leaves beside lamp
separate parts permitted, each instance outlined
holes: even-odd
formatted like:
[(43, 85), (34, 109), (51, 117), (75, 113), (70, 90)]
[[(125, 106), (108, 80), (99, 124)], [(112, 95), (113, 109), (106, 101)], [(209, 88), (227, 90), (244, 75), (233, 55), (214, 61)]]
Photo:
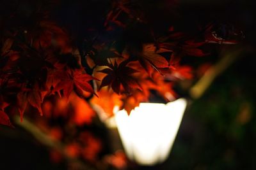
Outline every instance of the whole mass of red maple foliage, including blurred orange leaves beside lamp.
[[(154, 3), (168, 10), (154, 11)], [(32, 118), (53, 141), (65, 143), (64, 153), (51, 150), (54, 162), (64, 154), (125, 169), (124, 153), (102, 157), (104, 143), (89, 131), (97, 111), (112, 117), (116, 106), (129, 114), (154, 96), (172, 101), (180, 97), (177, 82), (202, 76), (210, 65), (197, 73), (184, 60), (244, 38), (232, 24), (212, 21), (182, 29), (172, 20), (177, 1), (154, 3), (4, 0), (0, 124), (14, 127), (13, 115)]]

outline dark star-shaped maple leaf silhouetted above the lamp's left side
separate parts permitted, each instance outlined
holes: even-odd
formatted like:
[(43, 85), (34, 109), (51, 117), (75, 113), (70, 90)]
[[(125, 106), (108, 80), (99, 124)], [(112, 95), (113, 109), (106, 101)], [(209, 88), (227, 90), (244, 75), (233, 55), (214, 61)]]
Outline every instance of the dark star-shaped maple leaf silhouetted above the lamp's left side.
[(141, 89), (135, 78), (131, 76), (131, 74), (138, 73), (138, 71), (126, 66), (128, 62), (128, 60), (125, 60), (118, 65), (115, 60), (114, 65), (109, 64), (109, 68), (99, 71), (108, 74), (103, 78), (99, 90), (106, 85), (111, 85), (111, 88), (117, 94), (120, 94), (122, 90), (129, 93), (132, 88)]

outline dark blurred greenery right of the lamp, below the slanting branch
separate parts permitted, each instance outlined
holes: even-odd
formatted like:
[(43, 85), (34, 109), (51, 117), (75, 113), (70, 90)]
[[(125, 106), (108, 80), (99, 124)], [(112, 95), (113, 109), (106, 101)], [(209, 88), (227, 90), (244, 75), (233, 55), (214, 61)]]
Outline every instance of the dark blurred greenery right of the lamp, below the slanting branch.
[(243, 56), (191, 102), (163, 169), (256, 169), (254, 63)]

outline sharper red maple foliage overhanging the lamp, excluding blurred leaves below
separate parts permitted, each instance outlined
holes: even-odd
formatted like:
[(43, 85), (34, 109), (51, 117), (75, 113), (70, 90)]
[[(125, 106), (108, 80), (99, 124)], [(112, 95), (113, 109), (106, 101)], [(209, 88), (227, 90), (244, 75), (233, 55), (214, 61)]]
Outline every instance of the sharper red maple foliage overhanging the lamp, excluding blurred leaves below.
[[(243, 36), (231, 25), (214, 24), (198, 25), (198, 36), (176, 30), (175, 25), (159, 33), (150, 27), (141, 4), (129, 0), (112, 1), (104, 22), (83, 27), (81, 36), (52, 17), (53, 9), (61, 6), (58, 1), (42, 1), (26, 15), (20, 4), (9, 5), (13, 10), (2, 11), (0, 20), (0, 123), (4, 125), (11, 125), (8, 115), (13, 114), (6, 107), (16, 108), (21, 120), (28, 104), (44, 115), (45, 97), (56, 94), (68, 102), (75, 92), (86, 102), (93, 96), (93, 102), (97, 91), (107, 87), (110, 96), (120, 96), (119, 107), (128, 113), (147, 101), (152, 90), (170, 100), (166, 96), (175, 97), (173, 83), (192, 78), (191, 67), (179, 64), (183, 57), (208, 55), (205, 44), (236, 43)], [(228, 31), (223, 35), (221, 29)], [(228, 39), (232, 36), (236, 38)], [(96, 101), (100, 104), (100, 95)], [(100, 104), (109, 115), (112, 105)]]

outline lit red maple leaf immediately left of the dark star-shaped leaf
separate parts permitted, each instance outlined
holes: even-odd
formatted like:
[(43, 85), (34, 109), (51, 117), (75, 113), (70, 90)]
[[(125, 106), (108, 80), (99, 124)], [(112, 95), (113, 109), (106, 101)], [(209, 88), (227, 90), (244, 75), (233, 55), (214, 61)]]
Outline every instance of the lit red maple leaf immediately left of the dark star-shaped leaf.
[[(92, 86), (88, 81), (97, 80), (89, 74), (83, 74), (82, 70), (76, 69), (75, 71), (67, 71), (61, 77), (61, 81), (56, 85), (54, 91), (60, 94), (60, 90), (63, 90), (65, 97), (70, 96), (72, 90), (75, 90), (78, 96), (83, 96), (83, 91), (95, 94)], [(97, 96), (97, 94), (95, 94)]]

